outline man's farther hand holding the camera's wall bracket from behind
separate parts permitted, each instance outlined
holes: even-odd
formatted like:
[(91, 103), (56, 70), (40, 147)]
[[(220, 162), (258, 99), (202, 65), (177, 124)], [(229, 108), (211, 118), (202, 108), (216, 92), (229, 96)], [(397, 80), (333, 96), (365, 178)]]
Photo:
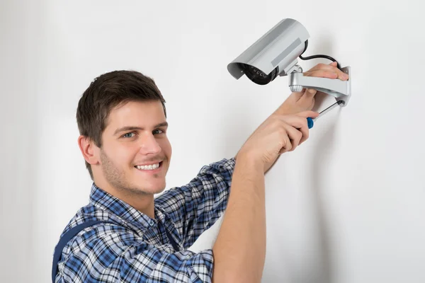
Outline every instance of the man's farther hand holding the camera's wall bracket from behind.
[[(336, 67), (336, 62), (331, 64), (317, 64), (312, 69), (303, 73), (304, 76), (316, 76), (319, 78), (341, 79), (346, 81), (348, 75)], [(322, 93), (319, 91), (319, 93)], [(279, 114), (295, 114), (297, 112), (312, 110), (314, 107), (314, 96), (317, 90), (314, 88), (302, 88), (300, 92), (293, 92), (285, 102), (276, 110)]]

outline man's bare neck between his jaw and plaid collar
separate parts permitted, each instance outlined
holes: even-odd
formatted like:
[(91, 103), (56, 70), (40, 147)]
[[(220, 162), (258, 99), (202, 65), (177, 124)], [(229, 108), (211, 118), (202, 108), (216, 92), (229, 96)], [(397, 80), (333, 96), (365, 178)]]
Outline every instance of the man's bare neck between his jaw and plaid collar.
[(108, 192), (108, 194), (117, 197), (123, 202), (126, 202), (131, 207), (134, 207), (138, 211), (142, 212), (142, 214), (146, 214), (152, 219), (155, 218), (153, 194), (147, 194), (145, 192), (128, 189), (117, 189), (111, 185), (106, 184), (99, 184), (98, 187), (101, 187), (102, 190)]

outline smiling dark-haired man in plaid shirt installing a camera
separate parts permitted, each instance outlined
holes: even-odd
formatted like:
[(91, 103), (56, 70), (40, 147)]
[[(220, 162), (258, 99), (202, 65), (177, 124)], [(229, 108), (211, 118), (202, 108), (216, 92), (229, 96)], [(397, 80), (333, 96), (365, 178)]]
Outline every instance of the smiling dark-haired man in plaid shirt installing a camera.
[[(336, 63), (305, 76), (346, 80)], [(292, 93), (233, 158), (203, 166), (166, 190), (171, 161), (165, 100), (136, 71), (98, 76), (79, 100), (79, 148), (90, 202), (64, 229), (55, 282), (259, 282), (266, 253), (264, 175), (309, 135), (316, 91)], [(187, 250), (223, 217), (211, 249)]]

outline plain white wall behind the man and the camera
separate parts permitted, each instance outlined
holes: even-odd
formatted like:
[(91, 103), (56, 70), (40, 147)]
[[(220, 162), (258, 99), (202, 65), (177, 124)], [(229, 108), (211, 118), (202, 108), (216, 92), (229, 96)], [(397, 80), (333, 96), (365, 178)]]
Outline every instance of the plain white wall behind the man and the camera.
[(425, 282), (424, 4), (347, 2), (2, 1), (0, 281), (48, 282), (57, 238), (88, 200), (75, 111), (94, 77), (154, 77), (174, 150), (167, 182), (183, 185), (289, 95), (286, 78), (257, 86), (226, 67), (295, 18), (306, 55), (351, 66), (353, 96), (267, 175), (263, 282)]

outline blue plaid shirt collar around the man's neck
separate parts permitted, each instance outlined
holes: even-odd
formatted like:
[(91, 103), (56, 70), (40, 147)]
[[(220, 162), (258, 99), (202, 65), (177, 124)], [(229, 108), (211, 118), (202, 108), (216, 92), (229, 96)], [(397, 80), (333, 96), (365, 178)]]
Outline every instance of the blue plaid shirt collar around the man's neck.
[[(94, 183), (91, 185), (90, 203), (99, 209), (118, 216), (124, 222), (133, 224), (138, 228), (148, 228), (149, 226), (157, 224), (157, 219), (150, 218), (146, 214), (130, 206), (127, 202), (97, 187)], [(158, 215), (157, 212), (155, 212), (155, 215)]]

